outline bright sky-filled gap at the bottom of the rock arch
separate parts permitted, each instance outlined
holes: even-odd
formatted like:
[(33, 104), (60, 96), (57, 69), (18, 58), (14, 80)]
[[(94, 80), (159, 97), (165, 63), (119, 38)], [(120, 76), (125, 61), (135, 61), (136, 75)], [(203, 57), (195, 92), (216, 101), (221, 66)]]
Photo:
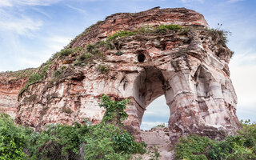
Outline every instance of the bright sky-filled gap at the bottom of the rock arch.
[(142, 117), (141, 130), (150, 130), (153, 127), (168, 127), (168, 120), (170, 117), (169, 106), (166, 105), (166, 98), (164, 95), (156, 98), (146, 110)]

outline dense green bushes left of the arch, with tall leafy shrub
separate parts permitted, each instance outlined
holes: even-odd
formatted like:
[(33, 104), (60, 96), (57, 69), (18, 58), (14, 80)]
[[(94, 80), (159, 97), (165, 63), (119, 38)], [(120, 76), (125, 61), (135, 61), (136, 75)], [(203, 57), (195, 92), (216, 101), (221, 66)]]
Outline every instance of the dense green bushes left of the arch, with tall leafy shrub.
[(84, 125), (50, 125), (41, 133), (15, 126), (9, 116), (0, 114), (0, 159), (128, 160), (130, 154), (144, 154), (146, 144), (134, 142), (122, 125), (128, 102), (115, 102), (102, 95), (100, 106), (106, 114), (100, 124), (91, 126), (85, 119)]

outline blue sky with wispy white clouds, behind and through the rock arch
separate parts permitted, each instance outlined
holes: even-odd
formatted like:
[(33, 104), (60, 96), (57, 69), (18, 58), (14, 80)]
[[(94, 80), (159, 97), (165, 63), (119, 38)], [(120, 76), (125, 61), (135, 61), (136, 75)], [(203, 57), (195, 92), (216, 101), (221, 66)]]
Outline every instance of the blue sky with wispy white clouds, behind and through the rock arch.
[[(221, 29), (232, 32), (228, 46), (235, 53), (230, 71), (238, 94), (238, 118), (256, 121), (254, 0), (0, 0), (0, 71), (40, 66), (98, 20), (117, 12), (139, 12), (155, 6), (196, 10), (210, 27), (222, 23)], [(159, 102), (163, 105), (148, 108), (146, 122), (168, 119), (168, 115), (159, 116), (168, 109), (164, 98)]]

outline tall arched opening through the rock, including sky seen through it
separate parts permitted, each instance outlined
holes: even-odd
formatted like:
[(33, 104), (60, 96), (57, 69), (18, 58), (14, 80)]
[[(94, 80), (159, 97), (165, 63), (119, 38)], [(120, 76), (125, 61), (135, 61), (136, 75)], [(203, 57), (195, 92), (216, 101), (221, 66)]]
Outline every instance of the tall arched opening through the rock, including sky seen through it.
[(174, 93), (162, 70), (149, 66), (138, 74), (134, 82), (134, 100), (141, 130), (150, 130), (163, 123), (168, 127)]

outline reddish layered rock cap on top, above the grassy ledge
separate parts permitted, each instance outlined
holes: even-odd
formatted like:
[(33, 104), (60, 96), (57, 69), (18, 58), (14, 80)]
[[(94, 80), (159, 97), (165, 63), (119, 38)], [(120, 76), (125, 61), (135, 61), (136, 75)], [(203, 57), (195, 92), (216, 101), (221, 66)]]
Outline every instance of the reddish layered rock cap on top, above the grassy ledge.
[(70, 46), (85, 46), (88, 42), (97, 42), (102, 38), (114, 34), (118, 30), (134, 30), (141, 26), (159, 26), (177, 24), (181, 26), (206, 26), (209, 27), (202, 14), (186, 8), (151, 10), (137, 14), (119, 13), (108, 16), (104, 21), (86, 29), (86, 31), (70, 43)]

